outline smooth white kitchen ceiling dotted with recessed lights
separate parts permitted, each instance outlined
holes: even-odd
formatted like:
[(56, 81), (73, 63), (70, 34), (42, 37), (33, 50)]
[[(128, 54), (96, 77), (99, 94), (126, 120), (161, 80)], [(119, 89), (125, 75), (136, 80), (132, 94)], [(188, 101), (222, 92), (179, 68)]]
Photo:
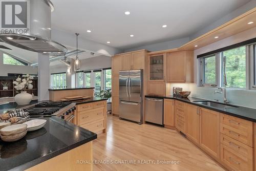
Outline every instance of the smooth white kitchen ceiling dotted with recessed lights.
[[(249, 1), (52, 0), (52, 27), (78, 32), (102, 44), (111, 41), (106, 45), (115, 48), (130, 49), (187, 37)], [(125, 11), (131, 14), (124, 15)]]

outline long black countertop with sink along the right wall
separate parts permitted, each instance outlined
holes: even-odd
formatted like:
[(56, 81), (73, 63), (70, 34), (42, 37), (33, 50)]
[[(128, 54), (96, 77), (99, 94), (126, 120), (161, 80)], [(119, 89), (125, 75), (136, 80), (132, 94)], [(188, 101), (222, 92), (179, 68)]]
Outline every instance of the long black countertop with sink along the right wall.
[(196, 103), (195, 101), (212, 101), (212, 100), (205, 100), (205, 99), (196, 98), (196, 97), (181, 98), (181, 97), (173, 97), (173, 96), (155, 96), (155, 95), (146, 95), (145, 97), (176, 99), (176, 100), (194, 104), (194, 105), (197, 105), (197, 106), (200, 106), (202, 108), (206, 108), (206, 109), (209, 109), (212, 111), (217, 111), (220, 113), (224, 113), (227, 115), (245, 119), (248, 121), (256, 122), (256, 109), (252, 109), (252, 108), (246, 108), (246, 107), (238, 106), (238, 105), (234, 105), (234, 106), (238, 106), (238, 108), (235, 108), (235, 107), (234, 108), (216, 108), (216, 107)]

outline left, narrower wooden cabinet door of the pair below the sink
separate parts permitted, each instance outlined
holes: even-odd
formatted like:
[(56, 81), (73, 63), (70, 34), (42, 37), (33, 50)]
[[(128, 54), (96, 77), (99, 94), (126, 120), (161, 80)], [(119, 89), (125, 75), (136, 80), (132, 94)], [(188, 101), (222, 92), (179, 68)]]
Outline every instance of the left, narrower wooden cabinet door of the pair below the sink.
[(187, 104), (187, 137), (196, 144), (200, 143), (200, 108)]

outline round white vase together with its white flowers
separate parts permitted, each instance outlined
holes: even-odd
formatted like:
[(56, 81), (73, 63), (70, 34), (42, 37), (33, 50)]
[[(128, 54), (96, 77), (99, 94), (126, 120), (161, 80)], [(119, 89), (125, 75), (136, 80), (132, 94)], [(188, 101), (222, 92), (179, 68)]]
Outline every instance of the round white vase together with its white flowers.
[(17, 95), (15, 95), (14, 99), (17, 104), (23, 105), (23, 104), (29, 104), (30, 101), (32, 100), (32, 95), (27, 93), (27, 87), (29, 84), (32, 83), (33, 77), (30, 76), (29, 74), (24, 75), (24, 78), (18, 78), (13, 81), (14, 84), (14, 89), (17, 91)]

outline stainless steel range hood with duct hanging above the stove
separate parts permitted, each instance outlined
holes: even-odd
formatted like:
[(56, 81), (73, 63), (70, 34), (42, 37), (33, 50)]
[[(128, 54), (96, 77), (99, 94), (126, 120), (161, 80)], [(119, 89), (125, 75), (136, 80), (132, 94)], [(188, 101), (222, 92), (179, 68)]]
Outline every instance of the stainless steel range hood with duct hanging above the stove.
[[(67, 48), (51, 40), (51, 12), (54, 10), (50, 0), (27, 0), (27, 33), (2, 33), (0, 39), (9, 45), (42, 53), (59, 56), (68, 52)], [(28, 18), (28, 17), (27, 17)]]

